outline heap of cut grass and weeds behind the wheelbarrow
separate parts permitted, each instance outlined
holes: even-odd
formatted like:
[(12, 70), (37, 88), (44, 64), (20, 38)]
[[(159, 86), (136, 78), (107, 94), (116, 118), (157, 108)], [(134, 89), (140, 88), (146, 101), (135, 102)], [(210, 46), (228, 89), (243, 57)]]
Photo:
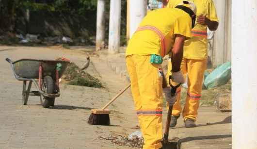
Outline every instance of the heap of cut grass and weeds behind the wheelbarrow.
[(74, 63), (70, 63), (64, 72), (64, 80), (67, 84), (102, 88), (103, 85), (99, 79), (91, 76), (89, 73), (81, 71)]

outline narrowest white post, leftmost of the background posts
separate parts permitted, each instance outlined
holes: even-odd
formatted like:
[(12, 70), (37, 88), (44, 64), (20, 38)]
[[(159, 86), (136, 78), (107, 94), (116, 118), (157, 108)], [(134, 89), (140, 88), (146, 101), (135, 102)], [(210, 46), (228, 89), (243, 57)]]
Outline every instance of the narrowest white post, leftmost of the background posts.
[(105, 44), (105, 1), (97, 0), (96, 50), (101, 50)]

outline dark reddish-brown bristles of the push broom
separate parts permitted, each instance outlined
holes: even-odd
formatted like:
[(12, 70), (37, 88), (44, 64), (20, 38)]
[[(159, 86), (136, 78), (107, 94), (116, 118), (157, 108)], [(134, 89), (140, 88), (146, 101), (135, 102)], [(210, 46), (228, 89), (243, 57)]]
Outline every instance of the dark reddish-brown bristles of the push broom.
[(88, 118), (88, 124), (91, 125), (110, 125), (109, 114), (91, 114)]

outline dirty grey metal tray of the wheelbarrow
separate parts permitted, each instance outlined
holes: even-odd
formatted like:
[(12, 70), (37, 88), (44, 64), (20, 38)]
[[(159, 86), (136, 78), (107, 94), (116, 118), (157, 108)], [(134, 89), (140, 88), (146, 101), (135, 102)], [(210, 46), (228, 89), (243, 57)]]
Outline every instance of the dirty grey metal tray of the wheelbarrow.
[(69, 64), (67, 61), (20, 59), (13, 62), (13, 66), (17, 76), (22, 78), (38, 79), (40, 65), (42, 65), (43, 68), (43, 76), (55, 76), (56, 65), (58, 63), (61, 64), (61, 69), (58, 71), (59, 78), (61, 78), (64, 70)]

